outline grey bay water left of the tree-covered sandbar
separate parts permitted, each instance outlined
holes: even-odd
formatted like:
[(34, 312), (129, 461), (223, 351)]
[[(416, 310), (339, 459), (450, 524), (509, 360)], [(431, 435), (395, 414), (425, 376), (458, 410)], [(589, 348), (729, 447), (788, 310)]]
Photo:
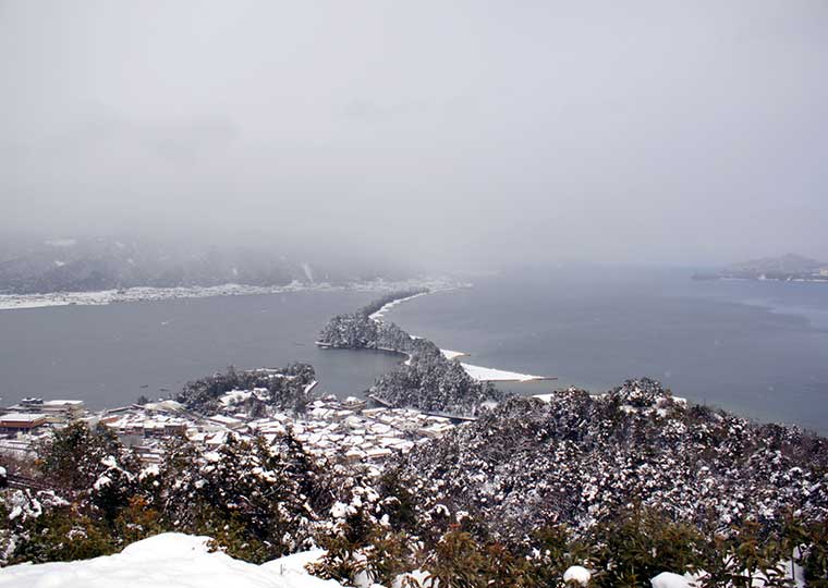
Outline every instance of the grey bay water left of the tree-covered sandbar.
[(360, 394), (398, 356), (324, 351), (314, 341), (329, 317), (373, 297), (297, 292), (0, 310), (0, 396), (4, 404), (35, 395), (112, 407), (141, 394), (167, 396), (229, 365), (291, 362), (314, 365), (319, 391)]

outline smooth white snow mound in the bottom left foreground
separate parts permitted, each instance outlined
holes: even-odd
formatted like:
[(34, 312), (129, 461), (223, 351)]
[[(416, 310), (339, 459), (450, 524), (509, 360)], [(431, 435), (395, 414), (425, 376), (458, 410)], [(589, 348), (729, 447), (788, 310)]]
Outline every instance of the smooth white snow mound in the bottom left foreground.
[(210, 552), (207, 537), (166, 532), (121, 553), (76, 562), (12, 565), (0, 571), (0, 586), (25, 588), (339, 588), (313, 577), (304, 564), (320, 551), (299, 553), (263, 565)]

